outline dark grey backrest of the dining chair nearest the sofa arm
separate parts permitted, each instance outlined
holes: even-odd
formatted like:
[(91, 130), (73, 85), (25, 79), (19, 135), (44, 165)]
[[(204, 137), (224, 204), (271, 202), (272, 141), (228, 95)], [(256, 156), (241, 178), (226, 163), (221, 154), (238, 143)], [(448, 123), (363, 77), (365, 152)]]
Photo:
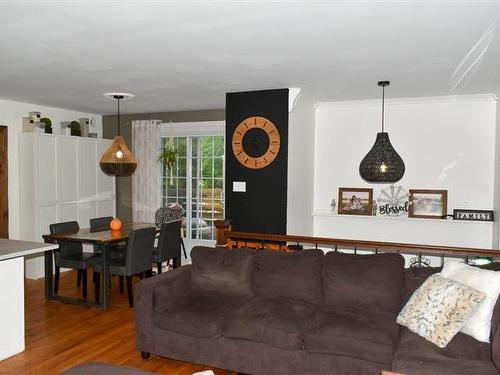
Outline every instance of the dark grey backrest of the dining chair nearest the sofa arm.
[(154, 227), (137, 229), (129, 234), (125, 255), (127, 275), (137, 275), (151, 269), (155, 235)]

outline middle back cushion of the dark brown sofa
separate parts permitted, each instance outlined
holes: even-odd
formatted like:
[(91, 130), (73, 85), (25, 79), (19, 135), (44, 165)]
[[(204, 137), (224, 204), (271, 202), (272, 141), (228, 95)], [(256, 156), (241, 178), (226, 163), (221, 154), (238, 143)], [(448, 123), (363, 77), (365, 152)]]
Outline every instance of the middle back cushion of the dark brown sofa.
[(255, 253), (252, 290), (256, 296), (285, 297), (321, 304), (323, 252), (259, 250)]

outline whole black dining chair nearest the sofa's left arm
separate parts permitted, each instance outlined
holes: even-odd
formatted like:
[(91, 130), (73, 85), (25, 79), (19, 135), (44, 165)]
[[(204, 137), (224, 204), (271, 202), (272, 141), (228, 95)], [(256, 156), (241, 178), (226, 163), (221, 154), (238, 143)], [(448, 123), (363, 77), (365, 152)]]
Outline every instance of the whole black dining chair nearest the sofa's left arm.
[[(132, 276), (140, 276), (144, 273), (147, 276), (151, 275), (155, 235), (156, 228), (154, 227), (137, 229), (130, 232), (125, 257), (109, 260), (109, 274), (125, 276), (127, 280), (127, 294), (130, 307), (134, 306)], [(97, 274), (102, 273), (102, 259), (96, 259), (94, 271)], [(100, 280), (100, 277), (97, 277), (95, 280), (96, 302), (99, 302), (100, 297)]]

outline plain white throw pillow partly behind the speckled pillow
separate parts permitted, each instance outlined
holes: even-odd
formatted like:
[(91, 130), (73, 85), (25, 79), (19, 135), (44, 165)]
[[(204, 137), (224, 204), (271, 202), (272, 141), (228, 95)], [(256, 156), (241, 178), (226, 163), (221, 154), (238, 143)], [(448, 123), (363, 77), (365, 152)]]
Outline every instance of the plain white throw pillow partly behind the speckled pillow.
[(500, 293), (500, 272), (483, 270), (468, 264), (451, 261), (444, 264), (441, 275), (486, 294), (478, 309), (460, 330), (482, 342), (490, 342), (491, 317)]

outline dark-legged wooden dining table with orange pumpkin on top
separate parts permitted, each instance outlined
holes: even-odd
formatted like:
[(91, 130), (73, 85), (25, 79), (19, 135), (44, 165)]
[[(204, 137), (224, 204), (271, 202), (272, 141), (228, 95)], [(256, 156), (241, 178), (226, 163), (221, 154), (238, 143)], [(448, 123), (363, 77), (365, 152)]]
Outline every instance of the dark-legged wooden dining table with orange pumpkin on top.
[[(130, 233), (137, 229), (155, 227), (151, 223), (123, 223), (121, 229), (111, 230), (109, 227), (106, 228), (82, 228), (76, 232), (64, 233), (64, 234), (44, 234), (42, 236), (46, 243), (59, 243), (59, 242), (79, 242), (81, 244), (91, 244), (96, 245), (102, 253), (102, 282), (101, 284), (101, 295), (102, 301), (89, 301), (81, 298), (74, 298), (68, 296), (62, 296), (59, 293), (54, 293), (54, 253), (58, 249), (46, 250), (44, 252), (45, 256), (45, 299), (47, 301), (60, 301), (63, 303), (70, 303), (80, 306), (88, 307), (99, 307), (102, 310), (109, 309), (110, 302), (110, 285), (106, 280), (108, 280), (109, 275), (109, 249), (110, 245), (118, 242), (128, 241)], [(158, 232), (158, 229), (157, 229)]]

